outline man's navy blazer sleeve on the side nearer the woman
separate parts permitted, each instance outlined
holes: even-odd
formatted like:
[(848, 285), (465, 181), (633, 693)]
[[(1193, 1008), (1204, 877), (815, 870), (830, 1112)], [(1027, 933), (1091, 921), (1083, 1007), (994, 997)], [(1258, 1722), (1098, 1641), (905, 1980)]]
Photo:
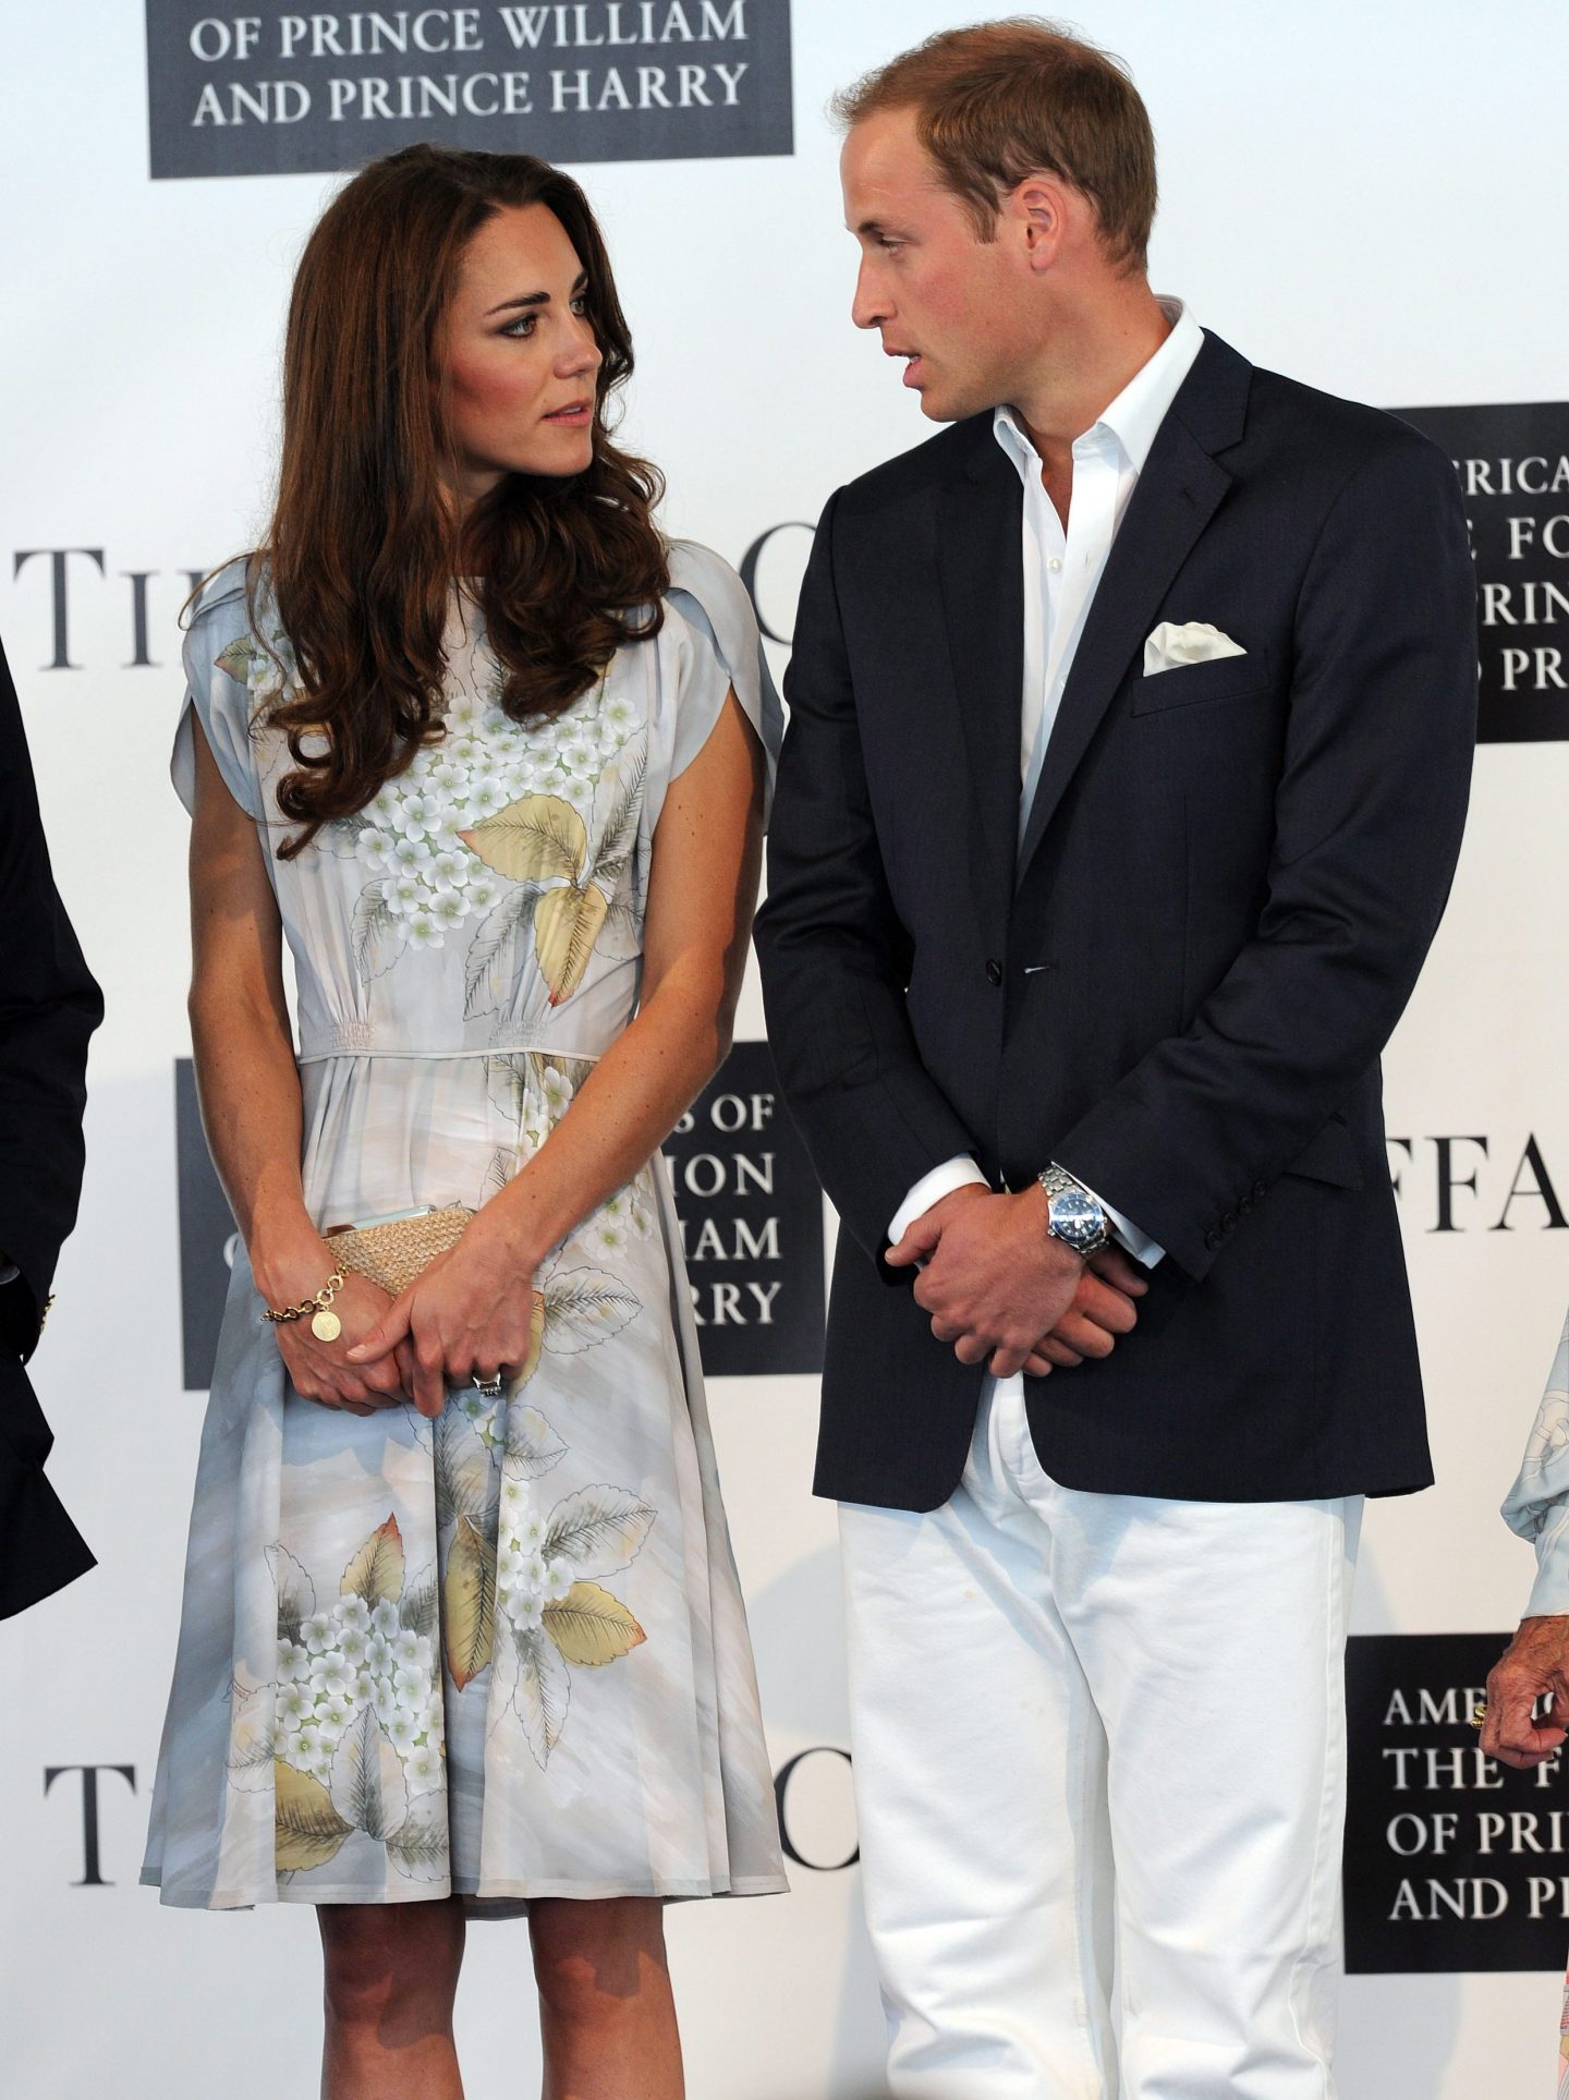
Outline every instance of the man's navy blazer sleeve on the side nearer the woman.
[(975, 1140), (926, 1075), (905, 1014), (909, 939), (865, 785), (834, 588), (836, 504), (817, 527), (796, 613), (756, 945), (786, 1100), (834, 1208), (876, 1258), (920, 1176)]

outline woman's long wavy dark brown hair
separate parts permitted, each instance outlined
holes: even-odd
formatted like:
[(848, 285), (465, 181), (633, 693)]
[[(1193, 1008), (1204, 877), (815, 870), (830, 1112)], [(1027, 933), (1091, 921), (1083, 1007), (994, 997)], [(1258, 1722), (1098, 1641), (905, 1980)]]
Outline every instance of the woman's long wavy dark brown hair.
[[(544, 204), (588, 275), (603, 363), (582, 475), (506, 475), (458, 523), (441, 332), (464, 248), (496, 212)], [(441, 706), (456, 575), (479, 578), (515, 720), (561, 714), (624, 640), (655, 634), (670, 584), (653, 525), (664, 483), (611, 443), (632, 338), (605, 242), (571, 176), (527, 153), (414, 145), (328, 206), (294, 277), (284, 458), (263, 546), (298, 670), (273, 708), (294, 771), (277, 788), (298, 853), (414, 758)], [(260, 565), (252, 563), (252, 601)], [(252, 603), (254, 626), (254, 603)]]

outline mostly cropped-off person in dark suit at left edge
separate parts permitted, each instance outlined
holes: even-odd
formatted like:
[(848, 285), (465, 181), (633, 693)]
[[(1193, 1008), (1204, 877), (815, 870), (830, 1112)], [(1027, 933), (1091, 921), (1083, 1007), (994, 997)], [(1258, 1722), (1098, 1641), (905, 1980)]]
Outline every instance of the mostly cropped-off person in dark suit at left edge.
[(0, 651), (0, 1619), (92, 1567), (44, 1474), (53, 1436), (25, 1365), (76, 1222), (86, 1046), (101, 1018), (48, 869)]

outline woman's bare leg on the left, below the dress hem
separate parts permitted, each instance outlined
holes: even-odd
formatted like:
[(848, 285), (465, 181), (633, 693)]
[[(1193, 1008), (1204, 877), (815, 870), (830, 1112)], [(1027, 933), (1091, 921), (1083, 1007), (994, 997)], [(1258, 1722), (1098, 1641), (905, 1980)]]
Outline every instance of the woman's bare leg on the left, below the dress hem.
[(462, 2100), (452, 2041), (462, 1903), (323, 1903), (317, 1924), (321, 2100)]

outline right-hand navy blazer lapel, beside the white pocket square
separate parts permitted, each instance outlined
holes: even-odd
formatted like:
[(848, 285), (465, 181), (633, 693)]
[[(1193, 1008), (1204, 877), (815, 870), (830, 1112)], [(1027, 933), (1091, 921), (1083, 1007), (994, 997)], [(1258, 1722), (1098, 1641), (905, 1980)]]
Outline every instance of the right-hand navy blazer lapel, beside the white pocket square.
[(1208, 336), (1155, 433), (1063, 689), (1019, 850), (1021, 882), (1162, 598), (1231, 487), (1214, 452), (1241, 437), (1250, 378), (1246, 359)]

